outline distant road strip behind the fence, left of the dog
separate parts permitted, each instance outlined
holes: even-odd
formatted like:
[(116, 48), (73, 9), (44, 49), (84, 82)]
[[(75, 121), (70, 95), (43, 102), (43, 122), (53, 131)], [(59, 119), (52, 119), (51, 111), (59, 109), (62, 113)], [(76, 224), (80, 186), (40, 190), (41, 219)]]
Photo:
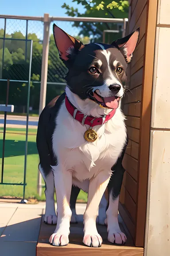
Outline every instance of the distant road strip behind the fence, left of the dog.
[[(23, 128), (27, 124), (27, 117), (26, 116), (10, 116), (7, 114), (7, 127), (19, 127)], [(28, 125), (29, 128), (37, 128), (38, 126), (39, 117), (30, 116)], [(0, 115), (0, 127), (4, 125), (4, 115)]]

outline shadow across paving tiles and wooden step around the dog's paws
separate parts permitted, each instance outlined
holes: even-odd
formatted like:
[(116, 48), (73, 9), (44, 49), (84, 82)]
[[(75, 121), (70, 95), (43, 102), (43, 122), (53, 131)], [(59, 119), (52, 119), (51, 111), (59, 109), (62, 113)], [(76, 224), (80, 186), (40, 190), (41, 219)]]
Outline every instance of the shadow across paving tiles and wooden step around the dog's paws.
[[(70, 224), (70, 244), (83, 244), (83, 215), (78, 215), (79, 223)], [(40, 228), (41, 224), (41, 228)], [(17, 224), (8, 225), (0, 228), (0, 252), (3, 256), (35, 256), (37, 241), (43, 244), (49, 244), (49, 238), (54, 232), (56, 225), (47, 225), (44, 223), (44, 215), (38, 218), (23, 221)], [(122, 231), (124, 232), (124, 228)], [(40, 232), (39, 232), (40, 230)], [(107, 240), (107, 227), (97, 225), (97, 230), (102, 236), (103, 244), (110, 244)], [(125, 246), (133, 246), (128, 237)], [(85, 246), (85, 245), (84, 245)], [(56, 248), (57, 249), (57, 248)]]

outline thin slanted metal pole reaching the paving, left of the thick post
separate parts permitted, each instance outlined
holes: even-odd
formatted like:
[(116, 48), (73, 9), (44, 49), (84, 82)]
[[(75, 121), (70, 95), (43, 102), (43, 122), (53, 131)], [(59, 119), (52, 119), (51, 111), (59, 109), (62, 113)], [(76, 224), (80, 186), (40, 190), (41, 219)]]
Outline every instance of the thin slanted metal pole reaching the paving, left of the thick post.
[(31, 40), (30, 66), (29, 66), (28, 92), (27, 92), (27, 124), (26, 124), (26, 140), (25, 140), (24, 173), (23, 173), (23, 200), (21, 201), (21, 203), (25, 203), (24, 198), (25, 198), (26, 171), (27, 171), (28, 120), (29, 120), (29, 104), (30, 104), (31, 62), (32, 62), (32, 40)]

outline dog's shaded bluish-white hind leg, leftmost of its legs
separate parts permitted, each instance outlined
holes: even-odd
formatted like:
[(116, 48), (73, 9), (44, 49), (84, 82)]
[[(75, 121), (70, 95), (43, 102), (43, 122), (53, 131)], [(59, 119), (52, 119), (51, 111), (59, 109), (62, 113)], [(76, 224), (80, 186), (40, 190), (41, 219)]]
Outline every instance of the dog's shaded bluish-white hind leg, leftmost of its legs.
[(42, 168), (41, 164), (39, 164), (39, 170), (42, 174), (42, 177), (45, 181), (46, 189), (46, 211), (44, 222), (46, 224), (57, 224), (57, 215), (55, 211), (55, 204), (54, 204), (54, 177), (51, 168), (48, 168), (48, 171)]

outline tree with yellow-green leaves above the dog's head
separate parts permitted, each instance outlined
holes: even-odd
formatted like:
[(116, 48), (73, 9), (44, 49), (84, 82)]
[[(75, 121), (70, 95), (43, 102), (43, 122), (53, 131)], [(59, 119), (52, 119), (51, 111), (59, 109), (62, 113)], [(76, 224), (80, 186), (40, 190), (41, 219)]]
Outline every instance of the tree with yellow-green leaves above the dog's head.
[[(96, 18), (127, 18), (128, 17), (128, 1), (124, 0), (72, 0), (77, 2), (85, 8), (84, 13), (78, 12), (78, 8), (70, 7), (70, 5), (64, 3), (62, 8), (66, 9), (68, 16), (77, 17), (96, 17)], [(74, 27), (80, 28), (79, 35), (88, 36), (91, 41), (102, 41), (104, 30), (120, 30), (119, 33), (110, 33), (106, 35), (106, 41), (109, 43), (122, 36), (121, 26), (122, 24), (113, 23), (92, 23), (92, 22), (74, 22)]]

